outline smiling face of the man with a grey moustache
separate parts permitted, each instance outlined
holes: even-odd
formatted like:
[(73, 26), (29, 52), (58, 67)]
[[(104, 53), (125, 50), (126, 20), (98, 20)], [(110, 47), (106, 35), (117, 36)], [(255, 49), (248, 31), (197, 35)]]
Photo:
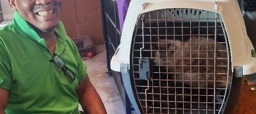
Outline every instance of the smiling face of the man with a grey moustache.
[(52, 31), (59, 23), (62, 0), (15, 0), (19, 15), (36, 31)]

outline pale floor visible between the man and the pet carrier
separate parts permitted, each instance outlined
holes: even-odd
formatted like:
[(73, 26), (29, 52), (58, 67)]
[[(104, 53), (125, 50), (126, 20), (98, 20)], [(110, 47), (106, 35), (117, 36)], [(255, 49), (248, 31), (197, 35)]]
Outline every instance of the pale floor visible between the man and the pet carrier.
[[(113, 77), (107, 75), (106, 52), (84, 60), (88, 76), (101, 96), (107, 114), (125, 114), (125, 106)], [(79, 107), (82, 110), (81, 107)]]

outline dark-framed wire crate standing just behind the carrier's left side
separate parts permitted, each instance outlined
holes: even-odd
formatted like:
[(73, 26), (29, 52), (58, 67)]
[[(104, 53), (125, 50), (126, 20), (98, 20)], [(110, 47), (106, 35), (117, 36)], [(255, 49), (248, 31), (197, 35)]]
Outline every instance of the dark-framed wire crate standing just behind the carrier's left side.
[[(116, 0), (101, 0), (101, 13), (104, 28), (104, 42), (107, 51), (107, 67), (109, 76), (113, 76), (123, 101), (126, 105), (127, 114), (131, 113), (131, 103), (125, 93), (122, 75), (110, 69), (110, 61), (120, 44), (121, 33)], [(125, 112), (124, 112), (125, 113)]]

